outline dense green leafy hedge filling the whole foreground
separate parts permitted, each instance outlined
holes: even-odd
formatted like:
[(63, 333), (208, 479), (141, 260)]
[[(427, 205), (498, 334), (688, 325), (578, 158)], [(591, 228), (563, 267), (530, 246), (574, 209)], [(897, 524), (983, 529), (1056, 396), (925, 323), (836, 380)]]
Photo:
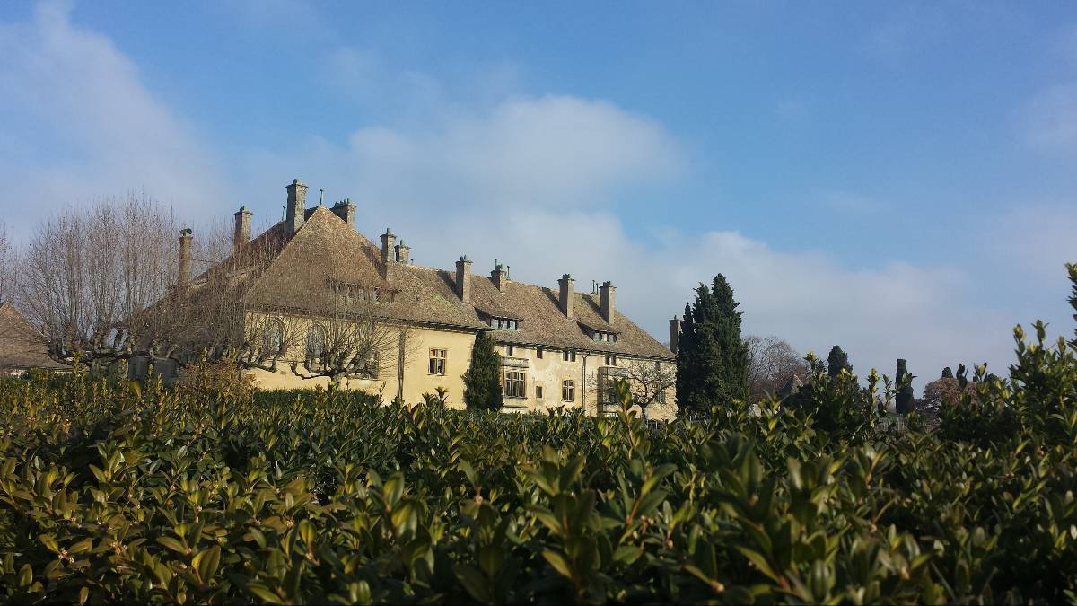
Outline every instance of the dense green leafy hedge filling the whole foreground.
[[(1077, 362), (877, 427), (894, 387), (658, 427), (0, 383), (4, 602), (1074, 602)], [(981, 371), (982, 374), (982, 371)]]

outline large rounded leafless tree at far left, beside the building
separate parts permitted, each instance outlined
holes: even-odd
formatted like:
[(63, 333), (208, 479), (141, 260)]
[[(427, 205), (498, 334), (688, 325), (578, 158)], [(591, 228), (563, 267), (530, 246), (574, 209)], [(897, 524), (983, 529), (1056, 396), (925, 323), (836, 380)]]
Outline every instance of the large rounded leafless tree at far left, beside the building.
[(171, 211), (141, 194), (44, 220), (22, 256), (15, 294), (48, 356), (97, 367), (153, 341), (162, 327), (124, 323), (169, 292), (176, 233)]

